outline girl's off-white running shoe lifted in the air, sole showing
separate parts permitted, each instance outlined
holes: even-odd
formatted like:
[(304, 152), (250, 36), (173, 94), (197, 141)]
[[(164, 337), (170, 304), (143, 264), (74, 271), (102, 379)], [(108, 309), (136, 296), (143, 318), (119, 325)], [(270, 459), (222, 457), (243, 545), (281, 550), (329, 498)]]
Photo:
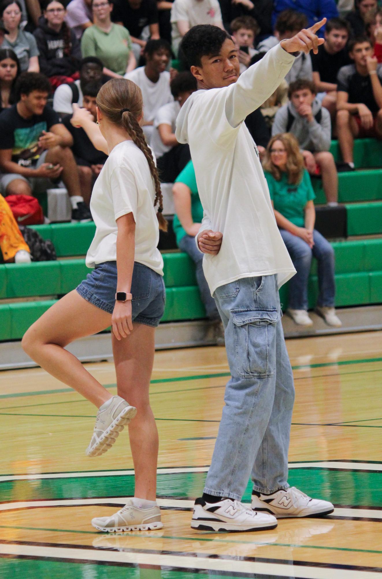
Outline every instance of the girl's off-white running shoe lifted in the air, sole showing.
[(109, 406), (97, 412), (95, 426), (90, 445), (86, 449), (87, 456), (103, 455), (112, 448), (118, 434), (136, 415), (136, 408), (130, 406), (120, 396), (113, 396)]

